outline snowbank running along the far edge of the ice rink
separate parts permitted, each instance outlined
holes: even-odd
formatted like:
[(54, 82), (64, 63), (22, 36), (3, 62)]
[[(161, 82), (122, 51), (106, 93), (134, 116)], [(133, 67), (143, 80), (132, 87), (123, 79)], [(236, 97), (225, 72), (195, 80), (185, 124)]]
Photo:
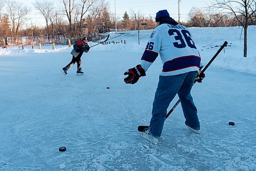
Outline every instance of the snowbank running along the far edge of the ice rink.
[[(248, 28), (248, 47), (247, 57), (243, 57), (243, 29), (242, 27), (227, 28), (189, 28), (195, 39), (195, 43), (200, 51), (202, 63), (206, 63), (217, 52), (224, 41), (228, 41), (228, 47), (225, 48), (225, 55), (220, 57), (212, 64), (219, 68), (230, 69), (233, 71), (256, 74), (256, 54), (254, 45), (256, 41), (256, 29), (254, 26)], [(141, 55), (146, 46), (149, 35), (152, 30), (140, 30), (140, 44), (138, 41), (138, 31), (110, 32), (110, 38), (105, 45), (93, 47), (90, 51), (123, 51), (124, 53), (139, 52)], [(121, 43), (122, 41), (122, 43)], [(125, 41), (125, 44), (124, 44)], [(113, 43), (115, 42), (115, 44)], [(89, 45), (95, 45), (96, 42), (89, 42)], [(56, 46), (52, 50), (51, 46), (42, 46), (39, 50), (37, 46), (34, 49), (26, 47), (24, 50), (18, 48), (0, 48), (0, 55), (22, 55), (28, 53), (58, 53), (70, 52), (72, 47)], [(140, 56), (141, 56), (140, 55)], [(138, 56), (138, 57), (140, 57)]]

